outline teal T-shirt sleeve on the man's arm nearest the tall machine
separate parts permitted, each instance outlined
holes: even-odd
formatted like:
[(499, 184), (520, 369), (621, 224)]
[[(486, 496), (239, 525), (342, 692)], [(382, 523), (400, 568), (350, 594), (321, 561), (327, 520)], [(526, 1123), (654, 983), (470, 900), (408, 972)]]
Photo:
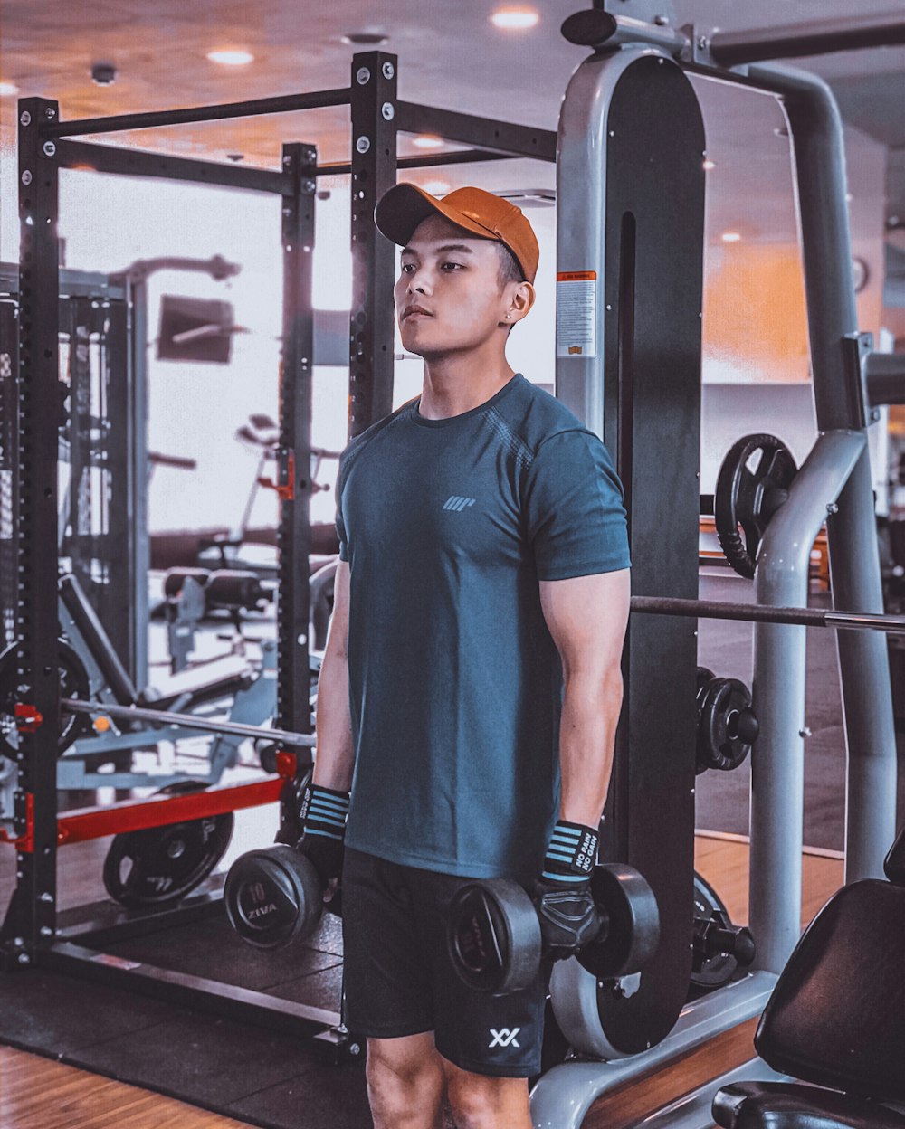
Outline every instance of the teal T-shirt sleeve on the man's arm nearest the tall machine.
[(538, 448), (524, 493), (538, 578), (565, 580), (628, 568), (623, 488), (590, 431), (562, 431)]

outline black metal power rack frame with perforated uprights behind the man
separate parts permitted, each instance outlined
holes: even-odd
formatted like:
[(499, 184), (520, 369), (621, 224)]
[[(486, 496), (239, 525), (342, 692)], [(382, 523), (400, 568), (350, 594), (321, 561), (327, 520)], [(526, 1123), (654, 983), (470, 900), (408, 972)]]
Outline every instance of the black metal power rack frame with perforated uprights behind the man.
[[(52, 406), (47, 410), (47, 405), (56, 403), (59, 376), (59, 169), (162, 177), (269, 192), (281, 198), (284, 299), (277, 482), (280, 488), (277, 725), (310, 733), (310, 593), (305, 566), (311, 551), (312, 252), (317, 176), (351, 174), (354, 297), (349, 329), (349, 432), (354, 437), (392, 406), (395, 251), (377, 233), (373, 213), (380, 195), (395, 183), (397, 170), (523, 157), (556, 160), (555, 132), (400, 102), (397, 79), (397, 56), (373, 51), (353, 58), (348, 87), (288, 97), (69, 122), (60, 120), (56, 102), (46, 98), (19, 102), (21, 246), (19, 441), (15, 467), (19, 597), (16, 633), (23, 640), (19, 669), (23, 700), (43, 720), (33, 729), (26, 727), (19, 750), (14, 830), (21, 842), (16, 848), (16, 889), (0, 926), (0, 965), (3, 968), (26, 966), (37, 960), (80, 975), (124, 982), (137, 991), (164, 992), (175, 1001), (193, 1005), (207, 1001), (221, 1013), (240, 1014), (249, 1022), (295, 1025), (302, 1034), (324, 1032), (337, 1021), (337, 1016), (328, 1013), (315, 1015), (315, 1009), (148, 965), (125, 970), (121, 962), (105, 963), (98, 959), (96, 949), (77, 944), (78, 935), (67, 930), (62, 937), (58, 933), (58, 413)], [(340, 165), (317, 165), (314, 147), (304, 143), (285, 145), (281, 167), (275, 172), (67, 140), (85, 134), (342, 105), (350, 110), (351, 158), (348, 164)], [(400, 159), (400, 132), (429, 132), (471, 148)], [(24, 843), (31, 849), (23, 849)], [(198, 912), (191, 908), (186, 911)], [(179, 911), (165, 914), (167, 922), (179, 917)], [(155, 925), (150, 917), (142, 922), (142, 928), (160, 928), (163, 924), (162, 919)], [(110, 940), (114, 935), (115, 929), (113, 933), (107, 930), (104, 936)]]

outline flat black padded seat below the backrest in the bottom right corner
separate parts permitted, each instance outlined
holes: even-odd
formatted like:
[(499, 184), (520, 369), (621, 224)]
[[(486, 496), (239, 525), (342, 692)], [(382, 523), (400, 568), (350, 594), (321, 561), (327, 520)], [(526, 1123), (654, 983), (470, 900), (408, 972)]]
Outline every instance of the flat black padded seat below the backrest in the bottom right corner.
[(800, 1083), (742, 1082), (713, 1103), (723, 1129), (905, 1129), (905, 1115), (864, 1097)]

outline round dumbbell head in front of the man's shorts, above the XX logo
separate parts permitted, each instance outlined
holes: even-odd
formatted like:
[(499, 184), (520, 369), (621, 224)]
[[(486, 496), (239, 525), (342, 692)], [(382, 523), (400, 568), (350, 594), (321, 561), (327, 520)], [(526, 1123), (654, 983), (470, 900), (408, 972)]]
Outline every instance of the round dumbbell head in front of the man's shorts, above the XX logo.
[(447, 921), (450, 956), (473, 991), (519, 991), (537, 977), (538, 911), (517, 883), (489, 878), (462, 886), (450, 902)]

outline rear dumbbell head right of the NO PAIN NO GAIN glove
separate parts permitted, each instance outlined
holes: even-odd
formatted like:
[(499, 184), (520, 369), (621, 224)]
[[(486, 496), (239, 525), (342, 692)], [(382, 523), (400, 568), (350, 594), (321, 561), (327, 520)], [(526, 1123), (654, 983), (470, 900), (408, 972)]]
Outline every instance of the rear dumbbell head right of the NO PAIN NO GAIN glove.
[(602, 939), (578, 961), (599, 980), (639, 972), (660, 945), (660, 909), (647, 881), (623, 863), (600, 863), (591, 875), (594, 901), (606, 914)]

